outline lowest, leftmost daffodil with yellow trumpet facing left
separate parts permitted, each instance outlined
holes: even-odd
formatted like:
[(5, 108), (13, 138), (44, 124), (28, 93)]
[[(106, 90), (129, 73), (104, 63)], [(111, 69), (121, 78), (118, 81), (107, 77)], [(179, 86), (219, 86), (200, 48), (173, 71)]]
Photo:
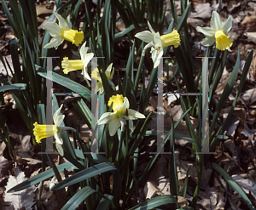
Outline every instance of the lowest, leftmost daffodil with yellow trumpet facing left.
[(41, 139), (54, 136), (56, 139), (56, 143), (62, 145), (63, 141), (61, 139), (61, 128), (59, 127), (61, 125), (61, 122), (63, 122), (64, 115), (59, 115), (61, 112), (61, 107), (55, 111), (55, 114), (53, 116), (53, 120), (55, 122), (54, 125), (38, 125), (38, 122), (35, 122), (33, 125), (35, 128), (33, 128), (34, 135), (36, 137), (36, 140), (38, 143), (41, 142)]

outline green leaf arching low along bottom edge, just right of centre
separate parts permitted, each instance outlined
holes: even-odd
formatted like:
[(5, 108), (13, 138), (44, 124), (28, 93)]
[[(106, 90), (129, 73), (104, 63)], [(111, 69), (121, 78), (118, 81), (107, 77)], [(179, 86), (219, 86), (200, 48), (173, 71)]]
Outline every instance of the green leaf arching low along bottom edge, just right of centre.
[(174, 196), (165, 195), (165, 196), (157, 196), (148, 201), (144, 201), (143, 203), (137, 205), (136, 207), (131, 207), (129, 210), (148, 210), (154, 207), (160, 207), (162, 205), (176, 203), (177, 201)]

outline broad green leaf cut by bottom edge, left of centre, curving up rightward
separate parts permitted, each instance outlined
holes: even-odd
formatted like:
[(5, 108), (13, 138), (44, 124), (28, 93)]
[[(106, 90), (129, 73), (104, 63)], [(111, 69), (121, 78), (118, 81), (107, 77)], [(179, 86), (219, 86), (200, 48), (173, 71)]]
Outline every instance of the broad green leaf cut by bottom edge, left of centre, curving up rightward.
[(85, 186), (83, 189), (79, 190), (67, 203), (64, 207), (61, 208), (61, 210), (70, 210), (70, 209), (76, 209), (76, 207), (79, 206), (79, 204), (84, 201), (84, 199), (88, 196), (90, 196), (92, 193), (95, 193), (96, 190), (91, 189), (89, 186)]

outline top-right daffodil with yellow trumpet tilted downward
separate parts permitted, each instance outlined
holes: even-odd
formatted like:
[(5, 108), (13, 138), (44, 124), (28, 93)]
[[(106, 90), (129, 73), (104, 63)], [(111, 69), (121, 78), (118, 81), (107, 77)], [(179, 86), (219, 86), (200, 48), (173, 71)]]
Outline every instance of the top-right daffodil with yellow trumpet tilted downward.
[(233, 44), (232, 39), (228, 37), (228, 33), (232, 27), (231, 16), (223, 22), (219, 14), (213, 11), (210, 26), (203, 28), (200, 26), (197, 27), (206, 36), (201, 44), (208, 47), (216, 42), (216, 48), (222, 51), (230, 48)]

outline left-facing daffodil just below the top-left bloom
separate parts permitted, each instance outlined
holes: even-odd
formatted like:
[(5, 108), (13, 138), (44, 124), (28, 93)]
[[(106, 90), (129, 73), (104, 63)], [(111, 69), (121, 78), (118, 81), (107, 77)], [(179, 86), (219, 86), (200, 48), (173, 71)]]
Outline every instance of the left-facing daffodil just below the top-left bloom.
[(81, 56), (81, 60), (68, 60), (67, 57), (63, 58), (61, 61), (61, 66), (64, 69), (64, 74), (67, 74), (70, 71), (82, 70), (82, 75), (84, 75), (84, 79), (90, 80), (90, 76), (87, 72), (87, 65), (93, 57), (93, 53), (87, 54), (89, 48), (85, 47), (86, 42), (79, 49), (79, 54)]

